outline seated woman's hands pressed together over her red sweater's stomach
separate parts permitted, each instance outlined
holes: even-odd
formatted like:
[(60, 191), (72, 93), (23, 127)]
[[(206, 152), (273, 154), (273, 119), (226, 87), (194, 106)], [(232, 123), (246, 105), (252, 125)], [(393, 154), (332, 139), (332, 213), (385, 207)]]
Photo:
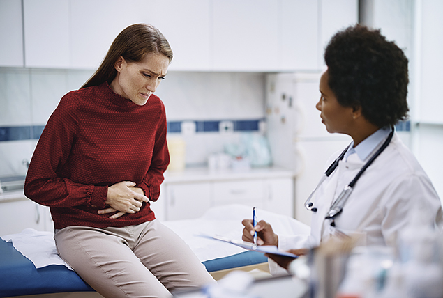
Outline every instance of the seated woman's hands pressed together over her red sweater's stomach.
[(143, 202), (148, 202), (140, 187), (135, 182), (122, 181), (107, 188), (106, 205), (110, 207), (98, 210), (98, 214), (107, 214), (118, 211), (110, 218), (117, 219), (125, 213), (133, 214), (140, 211)]

